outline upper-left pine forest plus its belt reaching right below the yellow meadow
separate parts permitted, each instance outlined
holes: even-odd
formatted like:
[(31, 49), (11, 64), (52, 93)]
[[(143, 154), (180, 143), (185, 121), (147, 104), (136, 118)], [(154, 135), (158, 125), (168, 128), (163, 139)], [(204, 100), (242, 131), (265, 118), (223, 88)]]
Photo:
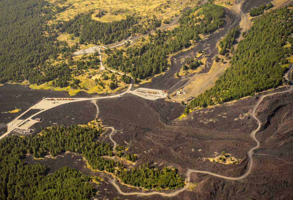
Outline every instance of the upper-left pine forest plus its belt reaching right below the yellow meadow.
[[(138, 23), (139, 17), (133, 16), (104, 23), (92, 20), (92, 12), (48, 25), (48, 21), (64, 9), (58, 6), (53, 9), (44, 0), (0, 2), (0, 83), (26, 79), (30, 84), (39, 85), (55, 80), (54, 86), (65, 87), (71, 80), (72, 71), (77, 70), (78, 73), (99, 67), (98, 58), (72, 61), (70, 55), (78, 44), (68, 46), (65, 41), (58, 41), (58, 33), (79, 37), (80, 44), (109, 44), (161, 25), (160, 21), (152, 18), (147, 20), (146, 27)], [(60, 55), (63, 62), (54, 63)]]

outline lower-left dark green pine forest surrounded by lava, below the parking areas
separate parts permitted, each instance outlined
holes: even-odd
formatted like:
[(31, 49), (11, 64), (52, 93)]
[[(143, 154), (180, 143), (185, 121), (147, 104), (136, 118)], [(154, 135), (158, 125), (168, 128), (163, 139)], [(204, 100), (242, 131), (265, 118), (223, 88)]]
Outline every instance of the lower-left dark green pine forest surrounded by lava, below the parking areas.
[[(161, 171), (154, 170), (147, 163), (147, 166), (139, 166), (128, 173), (119, 161), (115, 163), (113, 159), (103, 158), (102, 156), (114, 154), (109, 143), (95, 140), (101, 133), (103, 129), (100, 126), (95, 128), (93, 125), (62, 125), (43, 128), (37, 135), (23, 138), (13, 135), (4, 138), (0, 141), (1, 199), (52, 199), (53, 196), (57, 199), (86, 199), (92, 196), (95, 192), (93, 186), (88, 184), (91, 180), (89, 176), (69, 167), (62, 167), (47, 175), (46, 166), (27, 165), (23, 161), (25, 154), (41, 158), (46, 153), (56, 156), (65, 151), (83, 155), (93, 169), (112, 172), (126, 184), (149, 189), (184, 186), (184, 180), (176, 173), (176, 169), (165, 167)], [(118, 146), (116, 150), (124, 148)], [(125, 154), (125, 158), (135, 161), (137, 156)]]

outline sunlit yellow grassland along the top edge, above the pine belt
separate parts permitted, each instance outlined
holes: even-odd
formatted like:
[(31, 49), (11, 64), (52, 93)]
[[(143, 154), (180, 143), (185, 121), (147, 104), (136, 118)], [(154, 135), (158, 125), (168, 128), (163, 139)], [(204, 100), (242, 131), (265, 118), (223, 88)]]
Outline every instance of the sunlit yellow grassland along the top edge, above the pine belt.
[[(73, 18), (79, 13), (85, 13), (90, 10), (96, 10), (93, 13), (92, 18), (99, 21), (110, 22), (114, 20), (124, 19), (127, 15), (138, 16), (157, 16), (162, 20), (170, 19), (171, 16), (179, 14), (180, 10), (186, 6), (194, 6), (198, 4), (197, 1), (171, 2), (170, 0), (142, 0), (142, 1), (130, 1), (130, 0), (67, 0), (58, 1), (51, 0), (50, 3), (55, 5), (55, 9), (58, 7), (67, 7), (64, 11), (56, 15), (57, 20), (67, 21)], [(98, 17), (98, 13), (101, 14)], [(96, 17), (97, 16), (97, 17)]]

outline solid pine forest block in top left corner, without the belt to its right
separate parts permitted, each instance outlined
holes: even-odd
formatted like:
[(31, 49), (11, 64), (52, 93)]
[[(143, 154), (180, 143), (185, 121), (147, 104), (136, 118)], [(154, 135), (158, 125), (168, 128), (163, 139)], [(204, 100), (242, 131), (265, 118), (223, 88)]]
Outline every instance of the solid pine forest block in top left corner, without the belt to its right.
[(58, 73), (68, 76), (67, 66), (41, 73), (49, 57), (76, 50), (75, 45), (56, 42), (57, 34), (45, 23), (54, 14), (43, 0), (0, 2), (0, 83), (25, 78), (33, 84), (57, 78)]

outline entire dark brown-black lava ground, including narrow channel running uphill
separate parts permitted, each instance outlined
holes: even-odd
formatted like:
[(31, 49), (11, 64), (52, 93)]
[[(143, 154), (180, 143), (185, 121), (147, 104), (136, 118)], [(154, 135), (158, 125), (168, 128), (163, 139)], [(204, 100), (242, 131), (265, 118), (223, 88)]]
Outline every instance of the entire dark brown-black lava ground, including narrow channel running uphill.
[[(254, 6), (268, 2), (270, 1), (246, 0), (241, 8), (249, 12)], [(172, 66), (167, 73), (152, 77), (154, 79), (151, 82), (139, 87), (171, 88), (178, 82), (174, 74), (183, 65), (181, 58), (192, 57), (200, 49), (206, 49), (208, 57), (205, 68), (199, 73), (208, 72), (218, 52), (215, 46), (219, 38), (240, 23), (240, 16), (229, 9), (226, 9), (226, 13), (225, 28), (211, 34), (196, 47), (173, 55), (170, 59)], [(176, 91), (186, 82), (188, 79), (170, 91)], [(128, 93), (116, 98), (60, 104), (35, 116), (42, 118), (42, 121), (35, 123), (31, 128), (34, 129), (33, 134), (36, 134), (42, 127), (87, 124), (96, 118), (98, 112), (97, 118), (102, 125), (115, 129), (112, 139), (117, 145), (125, 145), (127, 153), (137, 155), (136, 162), (125, 163), (128, 170), (149, 162), (151, 167), (160, 170), (166, 166), (176, 167), (178, 174), (184, 179), (187, 178), (189, 169), (212, 172), (225, 177), (240, 177), (248, 171), (251, 164), (248, 151), (257, 145), (251, 134), (258, 128), (252, 114), (257, 102), (265, 94), (285, 91), (288, 88), (289, 86), (282, 86), (238, 101), (197, 109), (182, 119), (179, 117), (185, 106), (180, 103), (163, 99), (147, 100)], [(110, 94), (79, 92), (75, 96), (69, 96), (61, 91), (32, 90), (18, 84), (4, 84), (0, 87), (0, 135), (6, 132), (6, 125), (10, 121), (41, 101), (43, 97), (91, 98), (106, 95)], [(8, 113), (14, 109), (21, 111)], [(21, 119), (24, 120), (38, 111), (40, 110), (33, 109), (25, 113)], [(77, 153), (66, 152), (54, 158), (46, 155), (44, 159), (34, 159), (31, 154), (25, 154), (23, 158), (30, 165), (45, 165), (48, 169), (47, 174), (52, 174), (60, 167), (69, 166), (83, 174), (101, 177), (103, 180), (100, 185), (93, 183), (97, 194), (91, 199), (293, 199), (293, 92), (265, 97), (257, 107), (255, 116), (261, 123), (260, 130), (256, 133), (260, 146), (254, 150), (252, 170), (247, 177), (229, 180), (193, 172), (190, 174), (190, 182), (198, 185), (171, 197), (158, 194), (120, 194), (111, 184), (110, 180), (113, 177), (109, 173), (90, 170), (83, 156)], [(110, 129), (105, 129), (96, 140), (114, 145), (109, 138), (110, 133)], [(214, 158), (223, 151), (239, 158), (240, 162), (225, 165), (207, 159)], [(118, 181), (116, 183), (123, 192), (150, 192), (142, 188), (127, 187)], [(173, 191), (162, 190), (165, 193)]]

